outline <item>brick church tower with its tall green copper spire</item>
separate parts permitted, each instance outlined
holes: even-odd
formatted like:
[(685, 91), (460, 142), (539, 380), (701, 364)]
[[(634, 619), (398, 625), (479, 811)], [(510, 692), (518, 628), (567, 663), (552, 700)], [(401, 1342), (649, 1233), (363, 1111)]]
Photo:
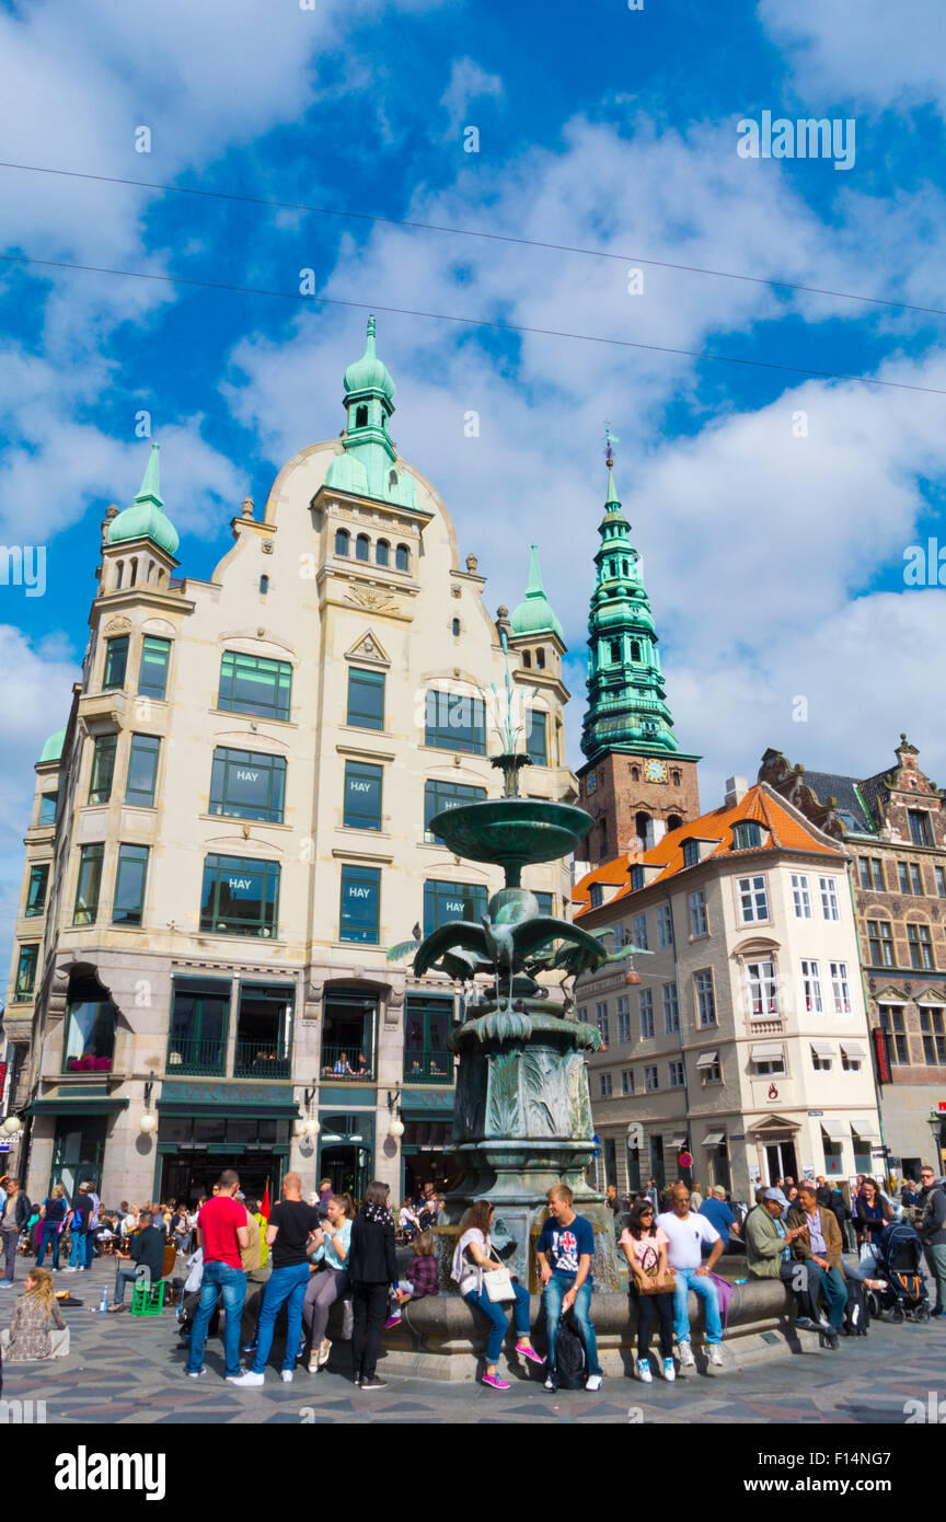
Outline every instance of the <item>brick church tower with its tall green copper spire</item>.
[(589, 616), (589, 706), (581, 731), (587, 761), (581, 802), (595, 817), (587, 866), (656, 845), (700, 814), (697, 763), (674, 734), (666, 703), (657, 629), (614, 489), (608, 432), (608, 493), (595, 556)]

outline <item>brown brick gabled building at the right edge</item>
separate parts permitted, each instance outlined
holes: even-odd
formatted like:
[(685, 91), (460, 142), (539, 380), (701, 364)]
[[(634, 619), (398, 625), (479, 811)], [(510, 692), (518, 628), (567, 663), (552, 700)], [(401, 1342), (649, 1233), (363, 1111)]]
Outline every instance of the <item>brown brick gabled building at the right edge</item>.
[(771, 749), (759, 770), (850, 858), (867, 1011), (885, 1036), (888, 1166), (906, 1178), (946, 1166), (946, 794), (917, 758), (900, 735), (896, 766), (868, 778)]

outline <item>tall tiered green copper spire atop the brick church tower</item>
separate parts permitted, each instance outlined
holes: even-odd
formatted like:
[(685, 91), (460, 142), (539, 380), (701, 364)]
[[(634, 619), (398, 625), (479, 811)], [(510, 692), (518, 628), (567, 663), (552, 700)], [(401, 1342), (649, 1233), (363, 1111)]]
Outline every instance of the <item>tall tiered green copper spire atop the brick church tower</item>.
[(610, 750), (677, 755), (680, 741), (666, 705), (651, 603), (631, 545), (631, 525), (614, 487), (608, 429), (608, 490), (595, 556), (589, 616), (589, 706), (581, 749), (589, 761)]

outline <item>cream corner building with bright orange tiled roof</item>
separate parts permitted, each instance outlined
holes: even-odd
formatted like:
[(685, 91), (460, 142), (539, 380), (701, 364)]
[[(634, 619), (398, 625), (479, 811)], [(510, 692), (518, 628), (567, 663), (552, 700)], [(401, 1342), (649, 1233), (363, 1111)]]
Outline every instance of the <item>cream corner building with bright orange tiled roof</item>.
[(751, 1199), (786, 1175), (847, 1190), (882, 1170), (836, 840), (732, 778), (719, 808), (592, 872), (575, 906), (576, 924), (613, 927), (642, 953), (639, 980), (605, 970), (576, 989), (604, 1038), (589, 1062), (608, 1183), (683, 1177)]

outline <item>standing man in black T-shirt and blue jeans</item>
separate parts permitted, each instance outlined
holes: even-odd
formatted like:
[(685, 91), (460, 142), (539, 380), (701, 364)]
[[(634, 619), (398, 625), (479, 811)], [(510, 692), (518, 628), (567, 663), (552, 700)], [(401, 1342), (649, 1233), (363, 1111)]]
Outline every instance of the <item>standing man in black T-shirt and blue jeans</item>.
[(283, 1380), (290, 1383), (295, 1370), (295, 1356), (303, 1339), (303, 1300), (309, 1285), (309, 1257), (306, 1247), (309, 1237), (321, 1225), (321, 1213), (316, 1205), (307, 1205), (303, 1199), (303, 1180), (298, 1173), (286, 1173), (283, 1180), (283, 1198), (272, 1207), (269, 1225), (266, 1227), (266, 1245), (269, 1247), (269, 1262), (272, 1272), (263, 1292), (263, 1309), (257, 1327), (256, 1356), (252, 1368), (234, 1385), (262, 1385), (266, 1359), (272, 1347), (272, 1332), (280, 1306), (287, 1301), (286, 1315), (286, 1352), (283, 1355)]

